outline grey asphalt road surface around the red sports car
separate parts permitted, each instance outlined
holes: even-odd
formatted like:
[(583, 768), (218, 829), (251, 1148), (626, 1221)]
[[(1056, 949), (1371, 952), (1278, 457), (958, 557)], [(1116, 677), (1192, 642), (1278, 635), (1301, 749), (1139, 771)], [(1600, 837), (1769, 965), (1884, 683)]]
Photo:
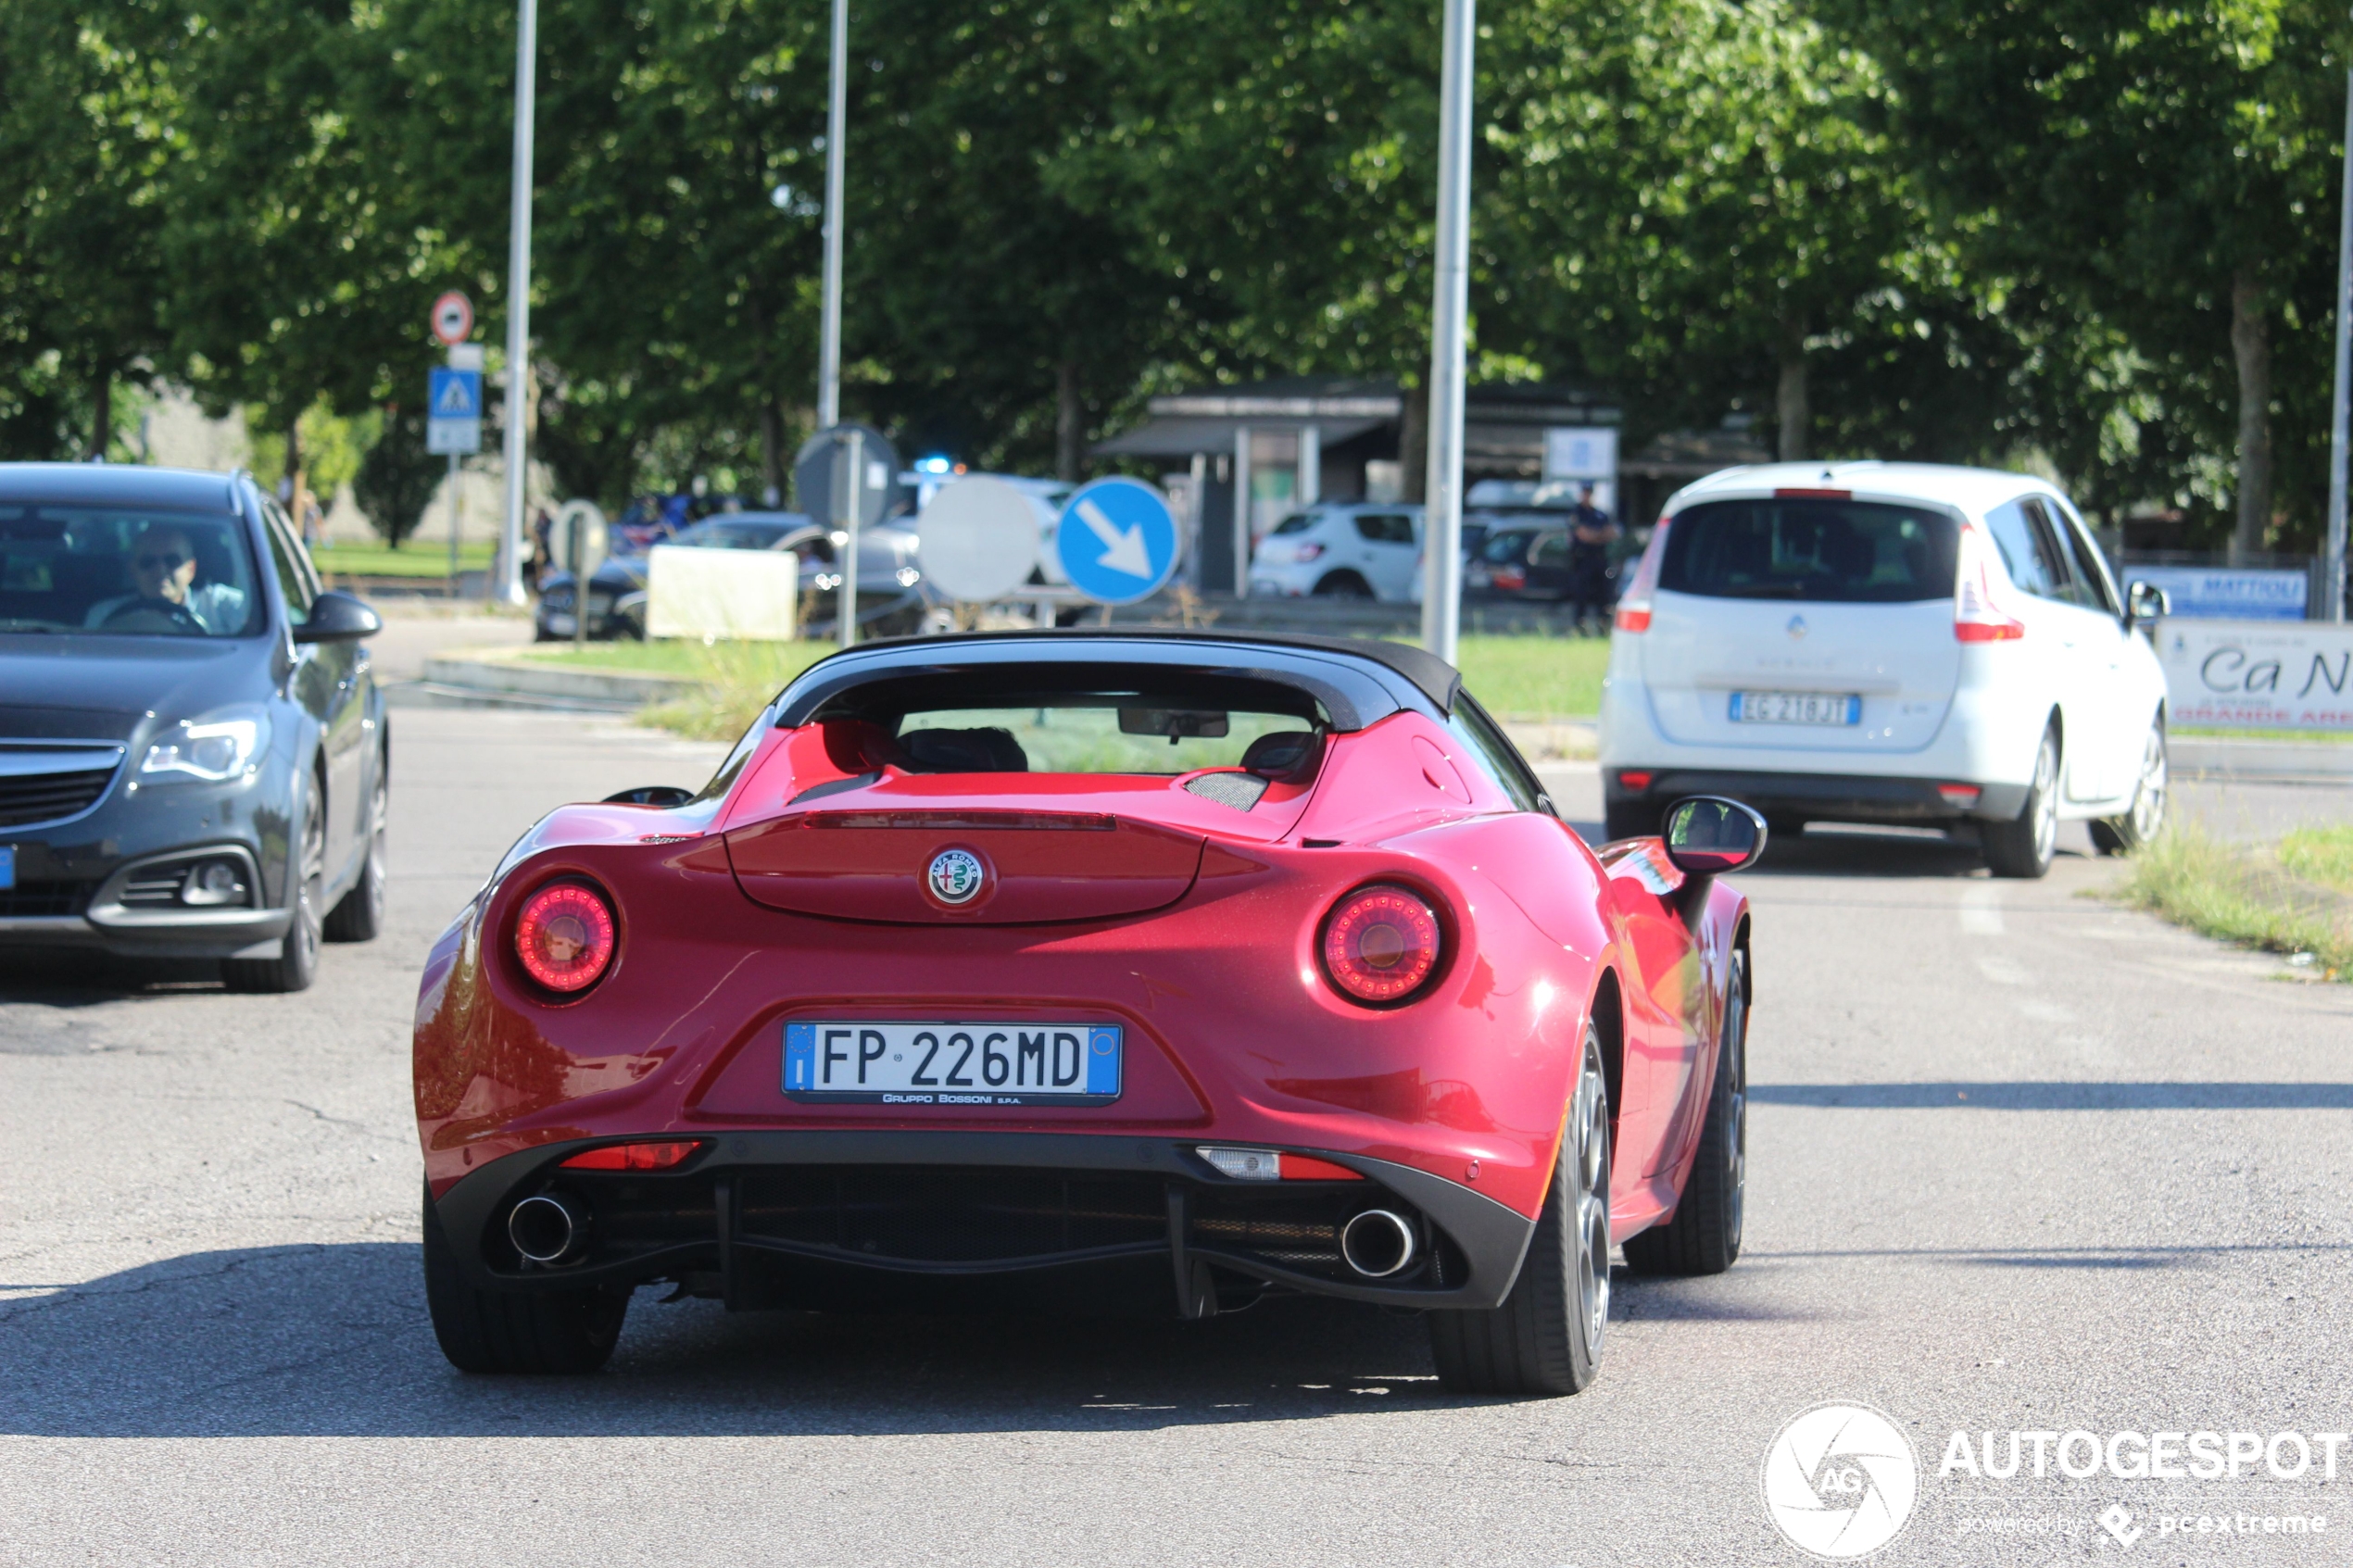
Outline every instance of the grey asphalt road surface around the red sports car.
[[(1920, 1453), (1875, 1561), (2353, 1556), (2353, 1450), (2332, 1486), (1939, 1474), (1955, 1429), (2353, 1427), (2353, 987), (2101, 903), (2087, 853), (2017, 884), (1828, 835), (1746, 877), (1748, 1251), (1619, 1274), (1579, 1399), (1447, 1399), (1419, 1324), (1320, 1302), (840, 1321), (645, 1293), (602, 1375), (468, 1380), (416, 1281), (419, 959), (541, 809), (696, 783), (713, 748), (402, 710), (393, 757), (391, 933), (318, 990), (0, 966), (0, 1563), (1800, 1563), (1758, 1474), (1819, 1401)], [(1598, 816), (1591, 769), (1553, 783)]]

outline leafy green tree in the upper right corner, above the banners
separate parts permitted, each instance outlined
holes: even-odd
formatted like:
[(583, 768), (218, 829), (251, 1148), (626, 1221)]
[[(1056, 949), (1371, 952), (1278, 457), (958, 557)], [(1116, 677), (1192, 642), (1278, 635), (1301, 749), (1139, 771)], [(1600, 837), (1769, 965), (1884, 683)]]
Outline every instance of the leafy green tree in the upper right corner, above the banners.
[[(2061, 331), (2045, 360), (2064, 383), (2040, 397), (2052, 444), (2177, 496), (2202, 456), (2235, 454), (2228, 538), (2261, 548), (2278, 414), (2311, 430), (2311, 388), (2327, 395), (2344, 14), (2306, 0), (1819, 12), (1882, 61), (1901, 146), (1972, 235), (1969, 266), (2082, 324), (2085, 353)], [(2318, 496), (2308, 447), (2289, 458), (2294, 531)]]

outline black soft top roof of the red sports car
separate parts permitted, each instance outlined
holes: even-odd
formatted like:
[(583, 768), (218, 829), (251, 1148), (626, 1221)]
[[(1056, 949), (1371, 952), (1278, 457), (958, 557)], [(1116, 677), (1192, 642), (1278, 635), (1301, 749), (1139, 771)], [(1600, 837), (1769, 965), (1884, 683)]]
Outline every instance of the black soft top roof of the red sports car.
[(1275, 679), (1313, 693), (1339, 729), (1362, 729), (1400, 708), (1454, 710), (1461, 675), (1402, 642), (1297, 632), (1176, 628), (1073, 628), (1054, 632), (951, 632), (892, 637), (809, 665), (776, 701), (779, 724), (807, 724), (859, 686), (958, 668), (1134, 663)]

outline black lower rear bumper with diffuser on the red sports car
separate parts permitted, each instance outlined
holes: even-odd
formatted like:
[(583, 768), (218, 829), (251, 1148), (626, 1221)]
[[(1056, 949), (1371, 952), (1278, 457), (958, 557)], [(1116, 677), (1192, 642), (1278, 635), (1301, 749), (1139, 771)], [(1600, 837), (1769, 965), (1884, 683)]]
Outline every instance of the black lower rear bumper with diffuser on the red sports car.
[[(701, 1138), (711, 1147), (668, 1173), (560, 1168), (609, 1140), (551, 1143), (468, 1173), (438, 1199), (459, 1267), (511, 1291), (673, 1279), (729, 1307), (1141, 1298), (1198, 1316), (1205, 1281), (1212, 1302), (1287, 1288), (1494, 1307), (1534, 1232), (1494, 1199), (1360, 1154), (1315, 1152), (1360, 1182), (1247, 1182), (1202, 1161), (1195, 1140), (896, 1128)], [(591, 1215), (574, 1262), (532, 1265), (506, 1239), (508, 1211), (541, 1192)], [(1339, 1258), (1339, 1225), (1367, 1208), (1419, 1234), (1393, 1279), (1358, 1276)]]

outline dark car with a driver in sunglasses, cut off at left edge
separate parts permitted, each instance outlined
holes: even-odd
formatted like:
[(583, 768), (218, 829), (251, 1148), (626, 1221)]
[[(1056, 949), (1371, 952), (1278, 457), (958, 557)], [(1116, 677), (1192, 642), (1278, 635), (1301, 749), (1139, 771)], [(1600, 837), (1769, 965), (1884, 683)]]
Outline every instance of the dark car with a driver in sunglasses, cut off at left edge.
[(0, 463), (0, 947), (287, 992), (376, 936), (381, 625), (242, 473)]

